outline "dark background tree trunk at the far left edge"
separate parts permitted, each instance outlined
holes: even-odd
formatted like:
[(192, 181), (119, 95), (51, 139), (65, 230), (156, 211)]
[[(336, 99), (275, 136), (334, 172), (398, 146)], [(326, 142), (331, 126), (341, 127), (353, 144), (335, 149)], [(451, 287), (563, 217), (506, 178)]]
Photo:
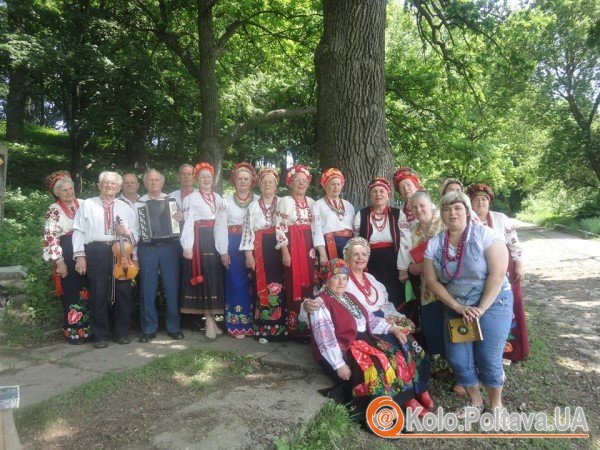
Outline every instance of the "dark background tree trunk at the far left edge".
[(25, 105), (27, 102), (27, 71), (16, 67), (9, 71), (6, 97), (6, 140), (23, 142), (25, 139)]

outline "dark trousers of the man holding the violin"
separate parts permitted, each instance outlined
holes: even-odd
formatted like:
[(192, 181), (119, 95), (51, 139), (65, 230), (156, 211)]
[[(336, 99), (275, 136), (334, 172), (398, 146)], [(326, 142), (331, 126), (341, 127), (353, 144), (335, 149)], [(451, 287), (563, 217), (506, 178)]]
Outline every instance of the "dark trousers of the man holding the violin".
[(90, 325), (95, 341), (105, 341), (110, 332), (112, 283), (115, 286), (115, 337), (126, 337), (131, 323), (131, 281), (115, 280), (112, 248), (103, 243), (85, 246), (87, 275), (90, 282)]

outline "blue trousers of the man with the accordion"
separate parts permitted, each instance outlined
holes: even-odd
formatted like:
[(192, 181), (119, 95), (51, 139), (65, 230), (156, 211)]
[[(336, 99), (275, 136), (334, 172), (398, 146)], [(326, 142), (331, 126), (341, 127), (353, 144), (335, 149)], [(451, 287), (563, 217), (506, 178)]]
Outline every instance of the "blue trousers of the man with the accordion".
[(156, 290), (158, 273), (165, 289), (167, 331), (179, 331), (179, 265), (181, 247), (177, 242), (162, 245), (140, 243), (140, 321), (142, 333), (152, 334), (158, 329)]

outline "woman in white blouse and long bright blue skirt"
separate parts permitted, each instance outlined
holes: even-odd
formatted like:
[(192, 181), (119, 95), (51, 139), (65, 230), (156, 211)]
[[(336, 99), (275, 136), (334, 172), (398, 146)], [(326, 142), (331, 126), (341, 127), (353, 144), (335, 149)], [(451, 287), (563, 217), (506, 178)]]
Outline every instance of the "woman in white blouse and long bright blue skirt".
[(258, 199), (252, 193), (255, 181), (254, 167), (248, 163), (236, 164), (231, 173), (235, 192), (225, 197), (215, 218), (215, 246), (225, 267), (225, 324), (229, 335), (239, 339), (254, 334), (252, 286), (240, 243), (248, 205)]

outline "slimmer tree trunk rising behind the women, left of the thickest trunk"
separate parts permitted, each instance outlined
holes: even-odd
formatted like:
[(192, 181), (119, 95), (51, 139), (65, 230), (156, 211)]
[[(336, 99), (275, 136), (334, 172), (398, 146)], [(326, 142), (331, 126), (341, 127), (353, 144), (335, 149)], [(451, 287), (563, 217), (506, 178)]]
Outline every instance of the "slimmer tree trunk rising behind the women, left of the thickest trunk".
[(200, 53), (198, 86), (202, 114), (198, 158), (213, 164), (218, 177), (223, 166), (225, 149), (219, 139), (221, 109), (216, 75), (215, 30), (212, 12), (214, 3), (214, 0), (197, 0), (198, 50)]

